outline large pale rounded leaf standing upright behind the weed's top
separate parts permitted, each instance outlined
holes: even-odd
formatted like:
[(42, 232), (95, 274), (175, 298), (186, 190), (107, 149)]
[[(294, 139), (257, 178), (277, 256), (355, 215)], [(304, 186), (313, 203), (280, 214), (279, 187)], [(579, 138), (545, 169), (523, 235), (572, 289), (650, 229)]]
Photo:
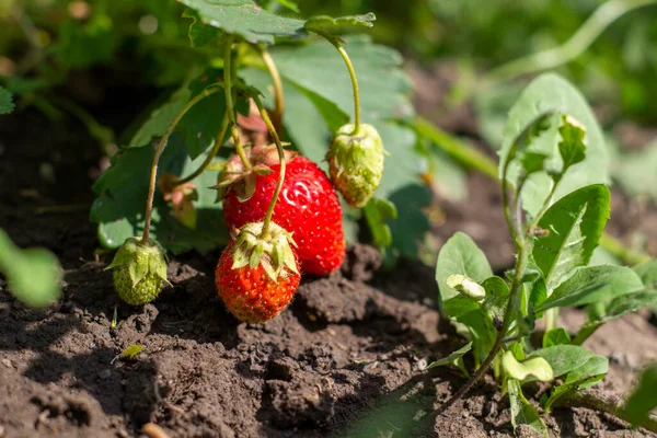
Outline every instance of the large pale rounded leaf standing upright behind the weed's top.
[[(529, 87), (525, 89), (520, 99), (516, 102), (504, 129), (504, 140), (500, 150), (502, 177), (503, 165), (515, 139), (529, 125), (531, 125), (539, 115), (549, 112), (569, 115), (584, 125), (587, 132), (586, 159), (574, 164), (568, 173), (562, 178), (555, 191), (553, 201), (556, 201), (577, 188), (591, 184), (608, 184), (607, 174), (608, 157), (604, 147), (602, 131), (596, 122), (593, 113), (586, 103), (581, 94), (567, 81), (554, 73), (541, 74), (534, 79)], [(537, 141), (540, 142), (538, 150), (546, 153), (550, 169), (563, 169), (563, 159), (557, 152), (557, 124), (552, 122), (551, 128), (542, 132)], [(534, 149), (535, 150), (535, 149)], [(519, 164), (511, 163), (509, 169), (509, 181), (515, 182), (519, 174)], [(543, 172), (534, 173), (526, 183), (527, 192), (522, 193), (522, 206), (532, 215), (540, 209), (543, 200), (548, 197), (552, 182)]]

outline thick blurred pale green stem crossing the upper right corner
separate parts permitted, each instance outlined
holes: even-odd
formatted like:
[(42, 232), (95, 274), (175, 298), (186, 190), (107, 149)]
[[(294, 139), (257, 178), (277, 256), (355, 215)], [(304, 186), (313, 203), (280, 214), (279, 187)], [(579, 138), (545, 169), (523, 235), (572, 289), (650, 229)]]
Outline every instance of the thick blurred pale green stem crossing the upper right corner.
[(580, 56), (614, 21), (630, 11), (657, 4), (657, 0), (611, 0), (600, 5), (563, 45), (507, 62), (488, 73), (493, 83), (563, 66)]

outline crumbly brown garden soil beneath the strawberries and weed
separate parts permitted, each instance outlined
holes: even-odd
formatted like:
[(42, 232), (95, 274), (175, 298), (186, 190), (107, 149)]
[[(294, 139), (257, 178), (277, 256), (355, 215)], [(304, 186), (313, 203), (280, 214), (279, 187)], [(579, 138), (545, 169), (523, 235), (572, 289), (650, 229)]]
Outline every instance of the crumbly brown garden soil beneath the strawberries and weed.
[[(423, 368), (463, 339), (440, 321), (433, 268), (417, 262), (387, 272), (377, 251), (351, 246), (339, 272), (306, 277), (287, 311), (253, 325), (217, 297), (219, 252), (192, 253), (170, 261), (172, 285), (153, 303), (122, 304), (104, 270), (112, 254), (88, 220), (105, 162), (74, 122), (32, 112), (0, 119), (0, 226), (20, 246), (54, 251), (65, 269), (64, 296), (45, 310), (21, 306), (0, 279), (0, 437), (132, 437), (145, 424), (170, 437), (512, 436), (508, 401), (489, 380), (434, 414), (464, 379)], [(498, 255), (506, 240), (491, 238), (506, 234), (494, 185), (481, 176), (470, 185), (483, 204), (442, 203), (436, 235), (483, 227), (475, 240), (508, 267), (510, 247)], [(623, 223), (619, 233), (633, 231)], [(581, 315), (563, 320), (575, 330)], [(120, 357), (131, 345), (143, 350)], [(610, 358), (600, 391), (622, 395), (657, 358), (657, 330), (649, 313), (630, 314), (587, 346)], [(554, 436), (647, 436), (587, 408), (544, 418)]]

